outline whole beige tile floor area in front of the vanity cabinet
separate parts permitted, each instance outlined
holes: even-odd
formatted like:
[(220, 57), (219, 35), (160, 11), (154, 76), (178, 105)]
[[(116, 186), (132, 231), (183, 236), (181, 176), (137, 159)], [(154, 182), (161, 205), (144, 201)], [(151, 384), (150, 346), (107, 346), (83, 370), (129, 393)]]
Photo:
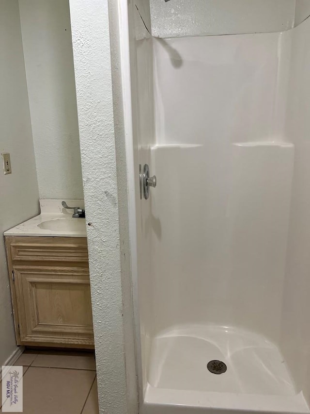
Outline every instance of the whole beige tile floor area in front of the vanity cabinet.
[(93, 353), (26, 350), (15, 365), (23, 365), (23, 414), (99, 413)]

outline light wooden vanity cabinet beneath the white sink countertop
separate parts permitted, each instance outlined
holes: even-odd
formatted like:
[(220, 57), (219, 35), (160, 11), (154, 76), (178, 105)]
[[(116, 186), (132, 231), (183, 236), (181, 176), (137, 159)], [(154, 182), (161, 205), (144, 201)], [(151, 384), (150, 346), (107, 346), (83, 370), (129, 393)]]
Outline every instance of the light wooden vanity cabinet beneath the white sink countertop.
[(5, 237), (17, 345), (93, 348), (84, 237)]

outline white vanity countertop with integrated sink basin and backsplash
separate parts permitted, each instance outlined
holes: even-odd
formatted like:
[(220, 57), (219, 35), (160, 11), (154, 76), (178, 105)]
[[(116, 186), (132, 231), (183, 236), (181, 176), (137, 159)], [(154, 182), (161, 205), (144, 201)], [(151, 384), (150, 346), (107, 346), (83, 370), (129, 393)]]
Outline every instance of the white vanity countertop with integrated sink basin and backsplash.
[[(73, 210), (61, 200), (40, 200), (41, 214), (4, 232), (5, 236), (86, 237), (85, 218), (72, 218)], [(84, 200), (64, 200), (68, 206), (84, 209)], [(52, 224), (51, 224), (52, 222)], [(48, 229), (44, 227), (55, 227)]]

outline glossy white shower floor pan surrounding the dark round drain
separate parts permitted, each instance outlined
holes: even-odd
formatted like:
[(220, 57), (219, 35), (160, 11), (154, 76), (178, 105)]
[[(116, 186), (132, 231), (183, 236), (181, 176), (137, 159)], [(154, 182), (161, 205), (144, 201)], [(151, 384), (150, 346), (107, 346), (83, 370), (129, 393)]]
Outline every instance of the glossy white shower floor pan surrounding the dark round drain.
[[(214, 374), (219, 360), (226, 372)], [(310, 413), (279, 349), (263, 336), (217, 326), (163, 332), (152, 344), (143, 414)]]

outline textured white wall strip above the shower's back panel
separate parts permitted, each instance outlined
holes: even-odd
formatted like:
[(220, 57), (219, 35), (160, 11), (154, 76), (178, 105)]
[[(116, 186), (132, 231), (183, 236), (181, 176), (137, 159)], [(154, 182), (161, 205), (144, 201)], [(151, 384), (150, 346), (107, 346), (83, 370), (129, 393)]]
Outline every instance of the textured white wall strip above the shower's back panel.
[(150, 0), (156, 37), (281, 32), (294, 26), (295, 0)]

